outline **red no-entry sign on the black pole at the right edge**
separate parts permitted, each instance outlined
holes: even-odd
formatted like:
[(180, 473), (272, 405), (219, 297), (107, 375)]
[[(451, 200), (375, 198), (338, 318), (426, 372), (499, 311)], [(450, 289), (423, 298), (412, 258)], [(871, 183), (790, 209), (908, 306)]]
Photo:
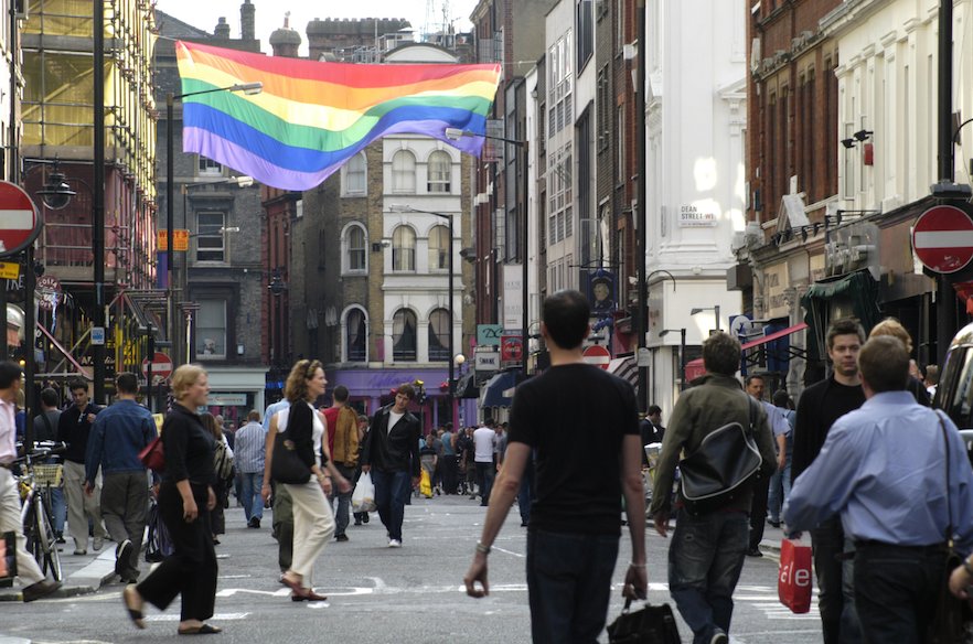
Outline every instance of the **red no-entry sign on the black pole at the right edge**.
[(955, 206), (933, 206), (912, 227), (912, 249), (934, 272), (956, 272), (973, 259), (973, 219)]

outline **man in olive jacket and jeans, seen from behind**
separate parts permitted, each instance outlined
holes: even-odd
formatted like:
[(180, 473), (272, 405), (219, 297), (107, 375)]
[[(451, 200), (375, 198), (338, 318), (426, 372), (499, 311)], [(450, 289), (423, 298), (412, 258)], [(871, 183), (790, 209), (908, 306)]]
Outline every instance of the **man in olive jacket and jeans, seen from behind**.
[[(652, 514), (663, 537), (669, 527), (670, 497), (683, 452), (693, 453), (712, 431), (730, 422), (750, 426), (750, 397), (734, 374), (740, 366), (740, 343), (716, 332), (703, 343), (706, 376), (684, 391), (672, 417), (655, 473)], [(762, 457), (760, 476), (777, 468), (773, 439), (762, 407), (756, 411), (755, 440)], [(725, 507), (693, 516), (676, 500), (676, 527), (670, 546), (669, 588), (680, 613), (693, 629), (694, 644), (725, 644), (733, 616), (733, 594), (744, 568), (749, 535), (752, 490), (746, 485)]]

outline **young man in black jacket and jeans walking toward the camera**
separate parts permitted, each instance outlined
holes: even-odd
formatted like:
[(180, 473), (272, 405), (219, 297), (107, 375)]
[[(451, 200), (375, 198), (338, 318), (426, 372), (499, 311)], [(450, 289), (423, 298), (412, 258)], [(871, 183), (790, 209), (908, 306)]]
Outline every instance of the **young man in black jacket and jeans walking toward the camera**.
[(409, 491), (419, 484), (419, 419), (408, 410), (415, 397), (411, 385), (400, 385), (395, 402), (379, 409), (372, 419), (362, 447), (362, 472), (372, 473), (375, 505), (388, 530), (389, 548), (402, 548), (406, 502)]

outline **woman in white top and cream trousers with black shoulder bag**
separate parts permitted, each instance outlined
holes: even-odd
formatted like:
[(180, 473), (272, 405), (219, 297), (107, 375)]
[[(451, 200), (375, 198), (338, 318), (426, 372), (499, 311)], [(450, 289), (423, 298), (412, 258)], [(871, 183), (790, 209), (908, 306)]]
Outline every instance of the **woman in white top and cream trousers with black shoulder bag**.
[[(279, 411), (270, 419), (267, 436), (267, 455), (264, 465), (264, 492), (270, 489), (270, 463), (274, 459), (274, 440), (278, 432), (286, 432), (293, 441), (295, 452), (311, 471), (307, 483), (284, 484), (293, 500), (293, 559), (282, 581), (293, 591), (293, 601), (323, 601), (324, 595), (314, 592), (311, 583), (314, 561), (334, 535), (334, 516), (327, 494), (331, 493), (332, 477), (341, 492), (351, 484), (344, 479), (322, 440), (325, 430), (324, 416), (311, 404), (324, 394), (328, 380), (318, 361), (299, 361), (290, 371), (284, 388), (290, 408)], [(322, 458), (323, 457), (323, 458)], [(323, 461), (323, 463), (322, 463)]]

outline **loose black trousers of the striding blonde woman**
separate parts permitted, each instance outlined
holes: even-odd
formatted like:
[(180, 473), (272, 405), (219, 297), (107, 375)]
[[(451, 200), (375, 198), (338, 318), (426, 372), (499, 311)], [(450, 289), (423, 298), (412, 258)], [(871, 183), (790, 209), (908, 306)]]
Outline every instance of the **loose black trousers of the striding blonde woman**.
[(209, 620), (216, 603), (216, 550), (210, 534), (206, 485), (192, 485), (200, 514), (192, 523), (183, 518), (182, 496), (174, 483), (159, 491), (159, 511), (169, 528), (174, 552), (162, 560), (137, 589), (159, 610), (165, 610), (175, 595), (182, 595), (180, 620)]

